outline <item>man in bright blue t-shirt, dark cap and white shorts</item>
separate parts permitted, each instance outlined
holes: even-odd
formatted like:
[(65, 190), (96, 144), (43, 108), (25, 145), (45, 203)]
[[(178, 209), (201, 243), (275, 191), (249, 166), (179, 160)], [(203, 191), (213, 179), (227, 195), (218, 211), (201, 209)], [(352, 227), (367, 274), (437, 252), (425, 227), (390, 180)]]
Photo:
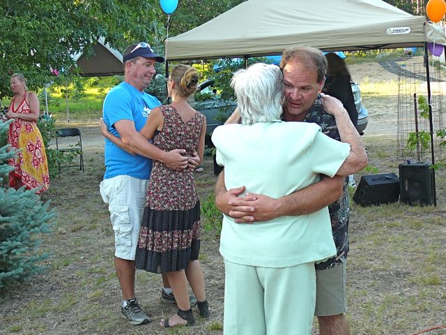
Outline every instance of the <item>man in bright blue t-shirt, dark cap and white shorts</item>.
[(106, 139), (106, 169), (100, 184), (114, 230), (114, 264), (123, 292), (121, 312), (132, 325), (149, 322), (134, 295), (134, 256), (152, 159), (173, 170), (184, 170), (198, 163), (194, 157), (183, 156), (185, 149), (162, 151), (138, 133), (151, 110), (161, 105), (157, 98), (144, 91), (155, 75), (157, 61), (162, 62), (164, 58), (155, 54), (147, 43), (130, 45), (123, 56), (124, 81), (109, 91), (103, 107), (103, 122), (108, 131), (120, 137), (133, 153)]

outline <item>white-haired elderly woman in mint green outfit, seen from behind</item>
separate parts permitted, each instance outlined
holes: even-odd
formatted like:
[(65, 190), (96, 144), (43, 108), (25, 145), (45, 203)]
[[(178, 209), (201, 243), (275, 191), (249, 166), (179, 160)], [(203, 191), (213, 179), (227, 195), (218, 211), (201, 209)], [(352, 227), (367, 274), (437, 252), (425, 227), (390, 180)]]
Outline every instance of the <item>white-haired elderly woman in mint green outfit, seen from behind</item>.
[[(212, 137), (226, 189), (245, 185), (247, 192), (280, 198), (314, 184), (319, 174), (348, 174), (349, 144), (323, 135), (316, 124), (281, 121), (279, 67), (254, 64), (231, 85), (242, 124), (220, 126)], [(314, 262), (336, 254), (327, 207), (252, 224), (225, 215), (220, 253), (224, 334), (310, 334)]]

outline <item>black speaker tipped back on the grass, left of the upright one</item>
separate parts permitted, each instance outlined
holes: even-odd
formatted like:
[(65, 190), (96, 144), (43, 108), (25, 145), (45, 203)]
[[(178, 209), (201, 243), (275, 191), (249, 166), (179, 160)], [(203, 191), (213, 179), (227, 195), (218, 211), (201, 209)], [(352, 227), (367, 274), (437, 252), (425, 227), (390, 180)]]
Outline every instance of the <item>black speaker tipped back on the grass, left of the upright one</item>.
[(361, 206), (388, 204), (399, 198), (399, 179), (397, 174), (370, 174), (361, 177), (353, 201)]

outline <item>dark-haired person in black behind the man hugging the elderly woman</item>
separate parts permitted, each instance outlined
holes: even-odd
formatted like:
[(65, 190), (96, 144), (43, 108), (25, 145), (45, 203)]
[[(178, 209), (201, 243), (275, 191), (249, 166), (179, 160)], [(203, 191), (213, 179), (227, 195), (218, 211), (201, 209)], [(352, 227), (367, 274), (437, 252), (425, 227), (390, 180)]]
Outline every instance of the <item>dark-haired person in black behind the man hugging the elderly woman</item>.
[[(327, 59), (327, 75), (322, 91), (341, 101), (353, 125), (357, 126), (357, 109), (351, 89), (351, 75), (346, 62), (333, 52), (325, 54), (325, 58)], [(347, 181), (350, 186), (356, 186), (353, 174), (348, 176)]]

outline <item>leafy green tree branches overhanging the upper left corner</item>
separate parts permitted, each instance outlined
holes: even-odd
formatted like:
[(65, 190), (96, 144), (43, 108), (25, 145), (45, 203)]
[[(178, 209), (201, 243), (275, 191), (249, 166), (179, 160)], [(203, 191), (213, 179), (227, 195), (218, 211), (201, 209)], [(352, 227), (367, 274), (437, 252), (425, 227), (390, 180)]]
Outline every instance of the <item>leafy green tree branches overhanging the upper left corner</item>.
[(121, 51), (150, 43), (160, 10), (155, 0), (0, 1), (0, 98), (10, 96), (12, 73), (24, 73), (33, 90), (55, 80), (51, 69), (73, 73), (72, 56), (91, 54), (100, 36)]

